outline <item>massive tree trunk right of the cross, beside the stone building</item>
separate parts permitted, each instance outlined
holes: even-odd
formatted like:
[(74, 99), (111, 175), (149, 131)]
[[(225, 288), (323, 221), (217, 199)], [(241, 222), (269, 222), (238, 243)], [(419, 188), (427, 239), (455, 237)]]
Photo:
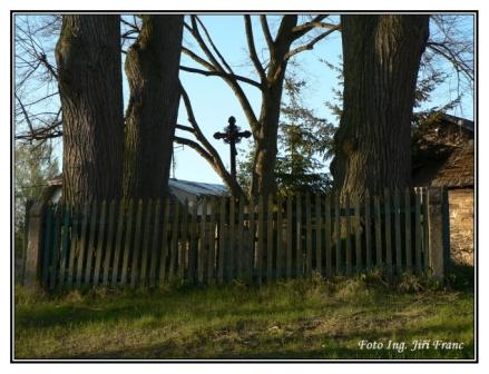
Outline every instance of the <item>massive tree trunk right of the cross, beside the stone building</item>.
[(411, 181), (411, 116), (428, 16), (342, 16), (344, 105), (331, 169), (341, 196)]

